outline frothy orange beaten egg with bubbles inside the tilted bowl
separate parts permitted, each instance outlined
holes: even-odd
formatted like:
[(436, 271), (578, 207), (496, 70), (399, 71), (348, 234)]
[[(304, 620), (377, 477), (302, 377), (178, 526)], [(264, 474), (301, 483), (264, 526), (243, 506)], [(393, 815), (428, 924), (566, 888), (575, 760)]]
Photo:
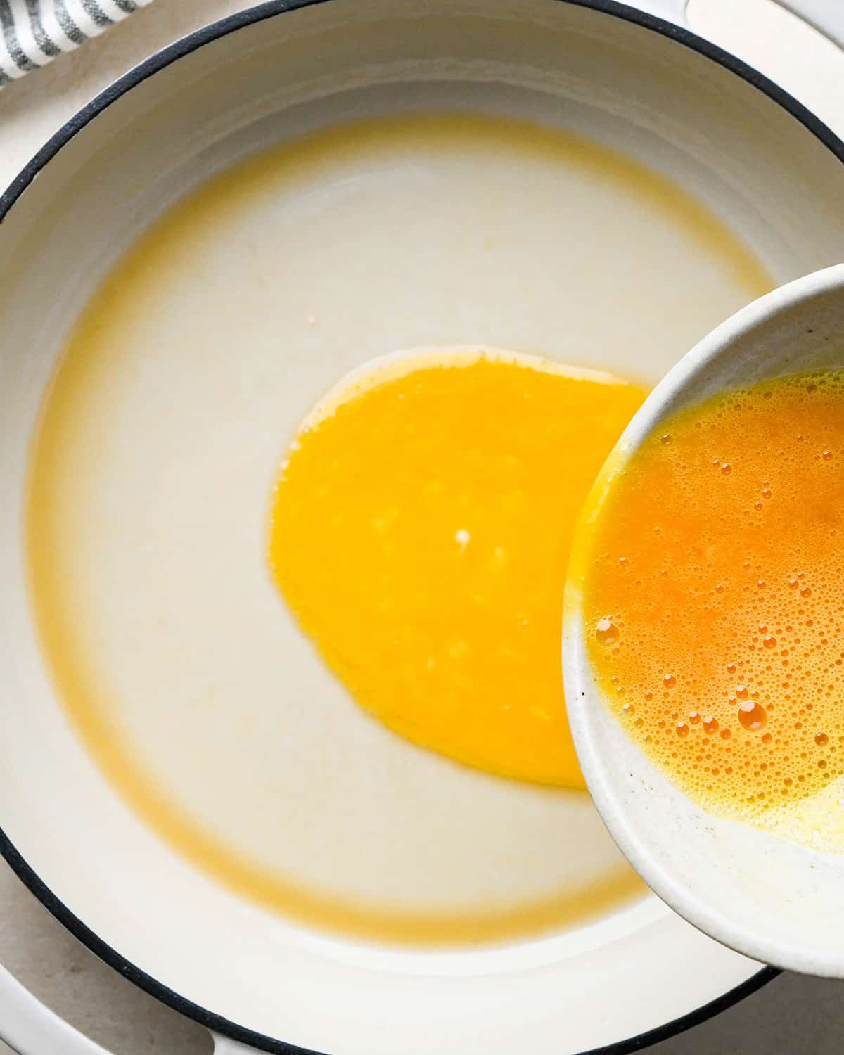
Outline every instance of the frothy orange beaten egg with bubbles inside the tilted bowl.
[(680, 411), (605, 499), (592, 661), (707, 808), (759, 818), (844, 773), (842, 542), (844, 372)]

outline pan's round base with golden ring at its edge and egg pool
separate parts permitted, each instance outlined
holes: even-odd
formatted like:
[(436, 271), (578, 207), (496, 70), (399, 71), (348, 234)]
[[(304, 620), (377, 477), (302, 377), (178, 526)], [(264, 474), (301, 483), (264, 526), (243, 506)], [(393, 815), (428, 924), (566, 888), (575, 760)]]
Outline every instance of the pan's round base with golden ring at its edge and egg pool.
[(353, 122), (190, 193), (33, 449), (35, 621), (102, 773), (280, 925), (502, 941), (640, 893), (567, 790), (571, 533), (619, 379), (769, 285), (664, 176), (520, 120)]

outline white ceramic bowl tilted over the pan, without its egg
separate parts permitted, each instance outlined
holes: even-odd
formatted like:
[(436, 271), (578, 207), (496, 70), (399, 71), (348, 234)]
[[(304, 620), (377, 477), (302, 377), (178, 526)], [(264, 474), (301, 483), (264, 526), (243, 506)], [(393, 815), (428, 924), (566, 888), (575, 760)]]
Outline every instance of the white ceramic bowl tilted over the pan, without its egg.
[[(748, 305), (646, 400), (595, 483), (595, 518), (613, 476), (667, 415), (744, 384), (842, 366), (844, 265)], [(588, 538), (581, 530), (575, 550)], [(584, 559), (575, 555), (572, 567), (582, 568)], [(791, 971), (844, 978), (844, 853), (713, 817), (691, 802), (606, 705), (587, 656), (580, 600), (581, 581), (570, 576), (563, 617), (569, 721), (592, 797), (628, 860), (672, 908), (724, 944)], [(833, 811), (841, 814), (838, 798)], [(829, 823), (840, 828), (840, 816)]]

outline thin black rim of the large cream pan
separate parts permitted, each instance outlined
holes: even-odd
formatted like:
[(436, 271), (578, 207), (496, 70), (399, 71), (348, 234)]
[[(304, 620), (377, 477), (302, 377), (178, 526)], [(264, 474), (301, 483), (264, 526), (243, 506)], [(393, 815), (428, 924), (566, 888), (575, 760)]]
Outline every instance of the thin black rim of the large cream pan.
[[(194, 33), (151, 55), (148, 59), (115, 80), (114, 83), (110, 84), (83, 107), (35, 154), (28, 165), (21, 170), (2, 195), (0, 195), (0, 224), (2, 224), (9, 210), (33, 179), (58, 154), (62, 147), (70, 142), (77, 132), (81, 131), (89, 121), (93, 120), (107, 107), (126, 95), (127, 92), (131, 91), (131, 89), (135, 88), (141, 81), (186, 55), (190, 55), (197, 49), (228, 36), (230, 33), (234, 33), (244, 26), (252, 25), (264, 19), (273, 18), (301, 7), (326, 2), (329, 2), (329, 0), (267, 0), (267, 2), (261, 3), (257, 6), (238, 12), (228, 18), (220, 19), (200, 30), (196, 30)], [(816, 138), (820, 139), (840, 161), (844, 162), (844, 142), (842, 142), (831, 129), (769, 78), (716, 44), (710, 43), (689, 30), (677, 26), (657, 16), (649, 15), (629, 4), (617, 2), (617, 0), (557, 0), (557, 2), (590, 7), (606, 15), (633, 22), (711, 59), (724, 69), (729, 70), (730, 73), (741, 77), (742, 80), (751, 84), (773, 102), (778, 103), (778, 106), (786, 110)], [(251, 1046), (258, 1051), (269, 1052), (271, 1055), (320, 1055), (320, 1053), (310, 1049), (301, 1048), (284, 1040), (276, 1040), (273, 1037), (249, 1030), (175, 993), (122, 957), (75, 916), (42, 882), (2, 829), (0, 829), (0, 853), (5, 858), (7, 864), (18, 878), (75, 938), (87, 945), (96, 956), (108, 963), (109, 966), (162, 1003), (168, 1004), (186, 1017), (199, 1022), (214, 1033)], [(756, 990), (771, 981), (779, 974), (780, 971), (775, 967), (761, 967), (756, 974), (742, 982), (742, 984), (716, 997), (714, 1000), (702, 1004), (687, 1015), (683, 1015), (653, 1030), (648, 1030), (637, 1036), (606, 1044), (601, 1048), (594, 1048), (588, 1052), (580, 1053), (580, 1055), (629, 1055), (631, 1052), (639, 1052), (651, 1044), (657, 1043), (660, 1040), (667, 1040), (669, 1037), (676, 1036), (685, 1030), (698, 1025), (722, 1011), (726, 1011), (728, 1008), (738, 1003), (740, 1000), (755, 993)]]

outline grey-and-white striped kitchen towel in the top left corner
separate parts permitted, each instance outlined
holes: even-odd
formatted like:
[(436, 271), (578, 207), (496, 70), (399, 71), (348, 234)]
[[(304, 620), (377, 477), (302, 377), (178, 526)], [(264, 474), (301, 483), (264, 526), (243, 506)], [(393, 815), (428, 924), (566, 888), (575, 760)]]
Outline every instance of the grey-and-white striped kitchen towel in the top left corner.
[(0, 0), (0, 89), (152, 0)]

